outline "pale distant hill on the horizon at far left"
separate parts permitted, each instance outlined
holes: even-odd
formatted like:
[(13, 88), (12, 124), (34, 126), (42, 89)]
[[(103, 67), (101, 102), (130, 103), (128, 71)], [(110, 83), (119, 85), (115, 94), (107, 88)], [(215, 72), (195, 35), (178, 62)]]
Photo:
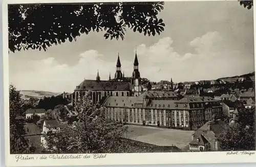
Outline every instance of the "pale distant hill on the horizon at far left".
[(20, 95), (22, 99), (30, 98), (42, 98), (42, 97), (52, 97), (57, 96), (61, 93), (50, 92), (50, 91), (39, 91), (39, 90), (20, 90)]

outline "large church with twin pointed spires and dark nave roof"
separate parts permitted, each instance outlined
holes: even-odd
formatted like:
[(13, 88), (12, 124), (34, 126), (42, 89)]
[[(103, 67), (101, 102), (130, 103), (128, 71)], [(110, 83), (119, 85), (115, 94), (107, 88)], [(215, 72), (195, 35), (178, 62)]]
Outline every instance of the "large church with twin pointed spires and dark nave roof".
[(141, 85), (137, 52), (135, 53), (133, 66), (132, 77), (124, 77), (118, 54), (115, 77), (111, 79), (111, 76), (109, 76), (109, 80), (100, 80), (100, 74), (97, 71), (95, 80), (84, 79), (76, 86), (72, 96), (72, 103), (77, 102), (89, 91), (91, 92), (91, 98), (94, 104), (103, 103), (109, 96), (138, 97), (143, 91), (143, 86)]

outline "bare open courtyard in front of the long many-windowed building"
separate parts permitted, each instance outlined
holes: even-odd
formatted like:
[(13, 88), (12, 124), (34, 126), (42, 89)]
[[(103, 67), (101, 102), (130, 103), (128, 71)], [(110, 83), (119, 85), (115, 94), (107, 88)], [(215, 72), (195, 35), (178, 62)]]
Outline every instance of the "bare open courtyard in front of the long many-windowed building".
[(177, 146), (184, 149), (191, 141), (194, 131), (127, 125), (124, 137), (158, 146)]

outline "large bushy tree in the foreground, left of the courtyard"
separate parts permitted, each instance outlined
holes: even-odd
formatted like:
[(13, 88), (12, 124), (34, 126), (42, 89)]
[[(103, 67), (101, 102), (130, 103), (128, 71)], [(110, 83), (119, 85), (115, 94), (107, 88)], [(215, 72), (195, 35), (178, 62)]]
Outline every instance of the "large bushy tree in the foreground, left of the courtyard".
[(53, 153), (112, 153), (120, 149), (120, 137), (125, 129), (105, 118), (105, 108), (93, 105), (90, 95), (76, 103), (75, 111), (79, 122), (47, 133), (49, 150)]

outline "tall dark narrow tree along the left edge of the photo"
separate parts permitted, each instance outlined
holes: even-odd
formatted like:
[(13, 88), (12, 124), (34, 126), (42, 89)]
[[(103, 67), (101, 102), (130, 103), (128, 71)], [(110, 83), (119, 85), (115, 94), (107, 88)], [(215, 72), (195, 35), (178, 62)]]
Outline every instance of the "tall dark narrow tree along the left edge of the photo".
[(10, 153), (22, 154), (28, 151), (28, 141), (24, 138), (24, 110), (19, 91), (13, 85), (9, 86), (10, 103)]

